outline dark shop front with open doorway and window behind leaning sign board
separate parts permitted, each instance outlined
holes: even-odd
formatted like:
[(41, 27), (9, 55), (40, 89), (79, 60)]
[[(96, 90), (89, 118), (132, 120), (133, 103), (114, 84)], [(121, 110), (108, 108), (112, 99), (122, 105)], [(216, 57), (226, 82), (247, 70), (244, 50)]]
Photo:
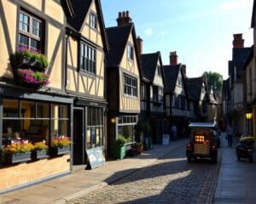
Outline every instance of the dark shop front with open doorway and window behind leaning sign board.
[(76, 99), (73, 107), (73, 164), (88, 163), (86, 150), (100, 148), (106, 156), (106, 102)]

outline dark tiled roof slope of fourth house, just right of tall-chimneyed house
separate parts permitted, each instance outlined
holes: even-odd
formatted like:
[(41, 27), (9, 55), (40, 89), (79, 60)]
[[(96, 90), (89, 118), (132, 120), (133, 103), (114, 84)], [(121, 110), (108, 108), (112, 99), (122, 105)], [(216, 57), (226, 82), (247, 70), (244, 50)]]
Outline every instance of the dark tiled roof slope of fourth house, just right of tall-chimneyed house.
[(159, 52), (153, 54), (141, 54), (141, 65), (143, 77), (148, 79), (149, 82), (153, 82), (154, 73), (159, 59)]

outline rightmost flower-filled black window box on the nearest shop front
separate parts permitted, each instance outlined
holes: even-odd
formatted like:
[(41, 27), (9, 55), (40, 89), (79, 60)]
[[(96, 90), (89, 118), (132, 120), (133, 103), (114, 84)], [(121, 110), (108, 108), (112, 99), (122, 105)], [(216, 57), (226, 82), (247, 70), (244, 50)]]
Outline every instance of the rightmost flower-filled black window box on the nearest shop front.
[(71, 141), (67, 136), (58, 136), (51, 142), (51, 154), (58, 155), (67, 155), (70, 152)]

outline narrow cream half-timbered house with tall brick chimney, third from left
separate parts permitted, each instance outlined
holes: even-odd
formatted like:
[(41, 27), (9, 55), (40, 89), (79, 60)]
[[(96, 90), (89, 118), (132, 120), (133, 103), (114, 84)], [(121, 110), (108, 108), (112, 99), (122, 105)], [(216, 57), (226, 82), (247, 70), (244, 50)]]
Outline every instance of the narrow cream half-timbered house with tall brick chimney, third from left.
[(140, 113), (140, 62), (137, 36), (129, 12), (119, 13), (118, 26), (107, 28), (108, 149), (119, 135), (133, 142)]

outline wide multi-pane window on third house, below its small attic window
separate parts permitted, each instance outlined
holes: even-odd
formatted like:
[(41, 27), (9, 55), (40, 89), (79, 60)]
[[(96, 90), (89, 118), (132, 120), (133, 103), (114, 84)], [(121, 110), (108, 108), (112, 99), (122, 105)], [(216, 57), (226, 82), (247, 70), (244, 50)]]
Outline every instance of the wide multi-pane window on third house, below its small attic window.
[(124, 74), (124, 94), (137, 97), (137, 78)]

